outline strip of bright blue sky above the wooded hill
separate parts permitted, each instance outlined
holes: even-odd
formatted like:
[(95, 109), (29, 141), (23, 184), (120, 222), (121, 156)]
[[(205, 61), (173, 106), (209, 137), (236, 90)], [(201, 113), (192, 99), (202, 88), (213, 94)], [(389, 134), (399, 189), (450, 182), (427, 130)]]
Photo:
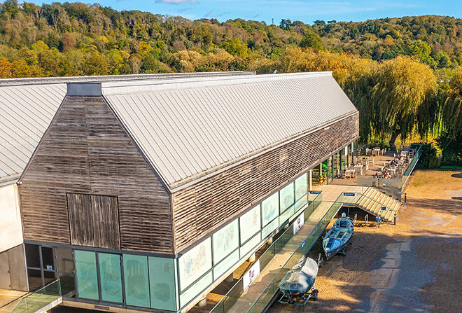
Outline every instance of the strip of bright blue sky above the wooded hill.
[[(29, 0), (30, 1), (30, 0)], [(36, 1), (36, 4), (54, 1)], [(73, 2), (73, 1), (70, 1)], [(80, 2), (86, 3), (85, 0)], [(405, 15), (449, 15), (462, 18), (461, 0), (99, 0), (91, 3), (111, 6), (116, 10), (140, 10), (184, 18), (230, 18), (264, 20), (279, 24), (281, 19), (361, 21), (395, 18)]]

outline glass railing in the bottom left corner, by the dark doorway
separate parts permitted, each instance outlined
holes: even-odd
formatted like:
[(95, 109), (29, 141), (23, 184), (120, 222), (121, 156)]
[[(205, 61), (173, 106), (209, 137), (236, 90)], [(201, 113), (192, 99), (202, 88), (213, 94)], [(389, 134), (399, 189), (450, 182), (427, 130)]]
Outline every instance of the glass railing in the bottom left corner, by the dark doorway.
[(10, 302), (10, 305), (1, 308), (1, 312), (34, 313), (48, 307), (53, 302), (59, 302), (63, 296), (71, 295), (73, 292), (73, 274), (67, 274), (36, 291), (28, 293), (19, 298), (18, 301)]

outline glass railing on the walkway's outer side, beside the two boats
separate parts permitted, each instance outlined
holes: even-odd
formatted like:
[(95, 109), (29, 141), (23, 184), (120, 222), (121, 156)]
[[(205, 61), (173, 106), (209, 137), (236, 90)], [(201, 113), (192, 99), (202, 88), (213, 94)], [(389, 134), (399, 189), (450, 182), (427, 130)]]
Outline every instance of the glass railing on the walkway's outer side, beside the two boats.
[(287, 260), (287, 262), (281, 267), (281, 270), (277, 272), (276, 276), (269, 284), (266, 286), (265, 290), (260, 294), (260, 296), (253, 302), (251, 307), (247, 310), (247, 313), (258, 313), (263, 312), (268, 305), (272, 303), (274, 295), (279, 292), (279, 283), (281, 279), (286, 275), (288, 270), (290, 270), (298, 261), (304, 257), (308, 251), (312, 248), (314, 243), (318, 240), (319, 236), (323, 233), (324, 229), (330, 223), (332, 218), (337, 214), (339, 209), (342, 207), (343, 203), (340, 202), (340, 197), (337, 197), (337, 200), (332, 203), (324, 216), (318, 220), (316, 227), (311, 230), (311, 233), (308, 235), (307, 239), (303, 242), (302, 245), (293, 252), (292, 256)]

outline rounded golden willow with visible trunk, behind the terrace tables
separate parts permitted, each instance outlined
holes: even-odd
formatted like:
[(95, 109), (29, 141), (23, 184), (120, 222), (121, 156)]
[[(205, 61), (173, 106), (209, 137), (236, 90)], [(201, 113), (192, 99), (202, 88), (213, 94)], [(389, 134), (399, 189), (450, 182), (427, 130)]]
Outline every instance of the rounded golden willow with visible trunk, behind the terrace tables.
[(437, 83), (428, 65), (410, 57), (396, 57), (379, 65), (374, 82), (370, 123), (374, 134), (389, 137), (393, 150), (398, 135), (405, 139), (413, 130), (425, 134), (433, 127)]

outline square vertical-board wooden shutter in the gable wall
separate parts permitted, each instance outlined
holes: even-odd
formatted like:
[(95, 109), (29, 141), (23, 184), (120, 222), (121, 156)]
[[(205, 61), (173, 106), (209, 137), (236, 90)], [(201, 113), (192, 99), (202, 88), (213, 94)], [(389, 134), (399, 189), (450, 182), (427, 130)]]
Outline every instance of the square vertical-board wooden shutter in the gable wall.
[(67, 194), (71, 244), (120, 249), (117, 197)]

